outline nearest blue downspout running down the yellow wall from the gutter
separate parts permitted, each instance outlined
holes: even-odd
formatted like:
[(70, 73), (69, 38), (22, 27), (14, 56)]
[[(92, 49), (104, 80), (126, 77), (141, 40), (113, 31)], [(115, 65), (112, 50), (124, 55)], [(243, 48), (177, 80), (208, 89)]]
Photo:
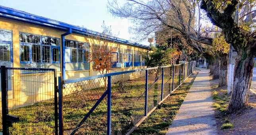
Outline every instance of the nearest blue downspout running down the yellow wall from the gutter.
[(62, 78), (63, 80), (66, 79), (65, 78), (65, 74), (66, 74), (66, 69), (65, 69), (65, 36), (69, 35), (72, 33), (72, 28), (69, 28), (68, 32), (64, 33), (61, 35), (61, 55), (62, 55), (62, 59), (61, 59), (61, 74), (62, 74)]

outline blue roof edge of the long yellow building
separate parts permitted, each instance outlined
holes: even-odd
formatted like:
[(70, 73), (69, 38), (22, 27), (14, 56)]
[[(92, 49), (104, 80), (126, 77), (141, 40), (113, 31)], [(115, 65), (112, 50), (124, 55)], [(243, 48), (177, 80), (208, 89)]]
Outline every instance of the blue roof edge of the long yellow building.
[(147, 45), (142, 45), (140, 43), (128, 41), (128, 40), (117, 38), (117, 37), (110, 36), (110, 35), (103, 37), (103, 34), (100, 32), (95, 32), (93, 30), (88, 30), (85, 28), (81, 28), (79, 26), (75, 26), (75, 25), (63, 23), (60, 21), (48, 19), (46, 17), (41, 17), (38, 15), (34, 15), (31, 13), (27, 13), (24, 11), (20, 11), (17, 9), (13, 9), (13, 8), (1, 6), (1, 5), (0, 5), (0, 17), (14, 19), (17, 21), (25, 22), (25, 23), (37, 24), (37, 25), (55, 28), (55, 29), (59, 29), (59, 30), (64, 30), (67, 32), (70, 31), (70, 29), (71, 29), (72, 33), (77, 33), (77, 34), (82, 34), (82, 35), (87, 35), (87, 36), (88, 35), (100, 35), (100, 36), (102, 36), (102, 38), (108, 39), (110, 41), (115, 41), (118, 43), (125, 43), (128, 45), (141, 47), (141, 48), (145, 48), (145, 49), (151, 49), (151, 47), (149, 47)]

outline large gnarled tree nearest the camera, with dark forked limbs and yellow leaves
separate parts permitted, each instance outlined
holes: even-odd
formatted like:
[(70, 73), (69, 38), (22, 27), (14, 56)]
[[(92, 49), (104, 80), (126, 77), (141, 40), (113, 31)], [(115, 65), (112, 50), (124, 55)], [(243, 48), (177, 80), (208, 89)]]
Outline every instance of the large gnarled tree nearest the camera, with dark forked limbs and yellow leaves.
[(222, 29), (225, 40), (238, 54), (228, 112), (241, 109), (248, 102), (256, 56), (255, 5), (255, 0), (202, 0), (201, 8), (211, 22)]

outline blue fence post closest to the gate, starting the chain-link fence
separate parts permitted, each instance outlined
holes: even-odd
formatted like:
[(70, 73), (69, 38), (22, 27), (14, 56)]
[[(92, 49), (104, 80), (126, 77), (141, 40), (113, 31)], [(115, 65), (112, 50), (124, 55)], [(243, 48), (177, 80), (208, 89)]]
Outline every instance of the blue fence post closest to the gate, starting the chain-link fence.
[(63, 84), (62, 77), (58, 77), (59, 87), (59, 135), (63, 135)]

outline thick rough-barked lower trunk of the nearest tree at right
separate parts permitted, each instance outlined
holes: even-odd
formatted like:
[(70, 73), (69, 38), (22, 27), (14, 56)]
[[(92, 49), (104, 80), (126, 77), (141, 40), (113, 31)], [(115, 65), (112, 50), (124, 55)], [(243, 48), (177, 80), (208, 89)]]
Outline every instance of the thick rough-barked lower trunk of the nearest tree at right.
[(244, 53), (238, 53), (236, 60), (234, 89), (227, 108), (227, 112), (229, 113), (241, 109), (248, 102), (254, 58), (253, 56), (247, 57)]

